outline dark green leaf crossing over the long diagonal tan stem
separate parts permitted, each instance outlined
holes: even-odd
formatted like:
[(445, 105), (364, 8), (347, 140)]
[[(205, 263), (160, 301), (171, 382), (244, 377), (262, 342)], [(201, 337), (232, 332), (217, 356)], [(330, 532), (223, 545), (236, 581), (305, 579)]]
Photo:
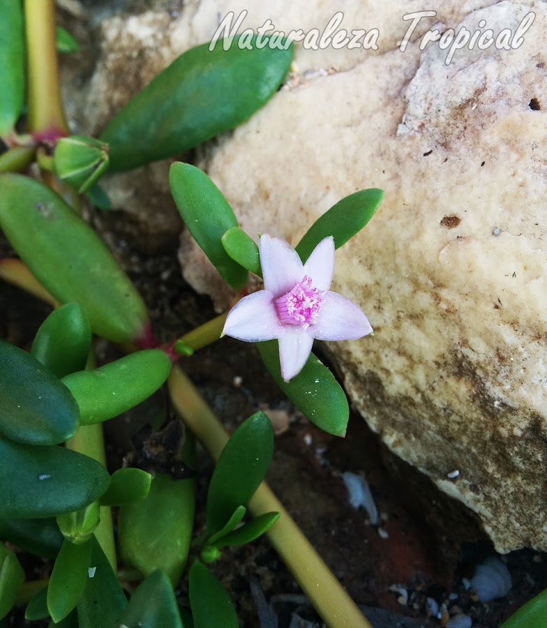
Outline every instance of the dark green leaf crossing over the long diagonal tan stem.
[(216, 463), (207, 493), (207, 535), (224, 528), (253, 497), (274, 453), (274, 430), (264, 412), (243, 421)]

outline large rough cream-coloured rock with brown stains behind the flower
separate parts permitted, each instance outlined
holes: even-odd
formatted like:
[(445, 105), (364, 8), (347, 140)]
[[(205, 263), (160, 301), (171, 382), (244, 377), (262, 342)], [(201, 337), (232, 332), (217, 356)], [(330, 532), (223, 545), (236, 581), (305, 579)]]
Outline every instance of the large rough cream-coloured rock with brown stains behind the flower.
[[(167, 62), (243, 8), (243, 27), (269, 17), (285, 31), (324, 28), (338, 10), (203, 0), (169, 20), (165, 7), (143, 16), (160, 20)], [(292, 244), (341, 197), (386, 190), (370, 224), (337, 253), (333, 289), (375, 329), (329, 345), (345, 387), (392, 451), (477, 514), (498, 551), (547, 550), (547, 3), (427, 8), (437, 15), (401, 52), (411, 3), (348, 2), (341, 27), (377, 28), (378, 50), (297, 46), (285, 87), (200, 165), (250, 234)], [(427, 29), (474, 32), (481, 20), (483, 31), (516, 36), (530, 11), (514, 49), (465, 48), (448, 65), (448, 50), (419, 49)], [(119, 19), (103, 26), (114, 50)], [(141, 39), (146, 48), (149, 36)], [(98, 63), (103, 80), (112, 54)], [(147, 59), (138, 63), (143, 81)], [(93, 81), (100, 94), (97, 73)], [(93, 98), (96, 131), (114, 98)]]

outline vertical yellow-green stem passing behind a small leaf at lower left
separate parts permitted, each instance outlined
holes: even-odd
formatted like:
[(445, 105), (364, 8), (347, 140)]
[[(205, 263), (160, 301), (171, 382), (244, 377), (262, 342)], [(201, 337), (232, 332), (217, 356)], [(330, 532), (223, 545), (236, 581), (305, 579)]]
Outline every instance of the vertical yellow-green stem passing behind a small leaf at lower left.
[[(103, 424), (82, 425), (75, 435), (66, 441), (66, 447), (79, 451), (90, 458), (94, 458), (106, 466), (105, 440), (103, 438)], [(108, 558), (114, 573), (117, 571), (116, 544), (114, 543), (114, 528), (112, 527), (112, 510), (110, 506), (100, 507), (100, 523), (95, 530), (103, 552)]]

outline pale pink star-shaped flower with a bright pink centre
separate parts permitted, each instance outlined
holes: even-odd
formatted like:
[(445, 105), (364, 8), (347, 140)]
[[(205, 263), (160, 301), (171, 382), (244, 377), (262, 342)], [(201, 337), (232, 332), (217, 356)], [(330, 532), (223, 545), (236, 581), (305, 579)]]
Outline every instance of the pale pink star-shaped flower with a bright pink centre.
[(277, 338), (281, 375), (298, 375), (317, 340), (354, 340), (373, 331), (361, 308), (331, 292), (334, 239), (320, 241), (305, 264), (294, 248), (262, 235), (264, 290), (243, 297), (228, 313), (223, 334), (242, 341)]

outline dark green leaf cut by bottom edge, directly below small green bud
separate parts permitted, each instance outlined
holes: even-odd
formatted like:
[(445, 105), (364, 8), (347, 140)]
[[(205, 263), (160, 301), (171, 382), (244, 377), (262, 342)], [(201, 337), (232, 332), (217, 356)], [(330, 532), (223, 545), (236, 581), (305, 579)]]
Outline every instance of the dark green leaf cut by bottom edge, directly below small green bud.
[(194, 628), (238, 628), (239, 623), (230, 596), (202, 562), (194, 562), (188, 579)]

